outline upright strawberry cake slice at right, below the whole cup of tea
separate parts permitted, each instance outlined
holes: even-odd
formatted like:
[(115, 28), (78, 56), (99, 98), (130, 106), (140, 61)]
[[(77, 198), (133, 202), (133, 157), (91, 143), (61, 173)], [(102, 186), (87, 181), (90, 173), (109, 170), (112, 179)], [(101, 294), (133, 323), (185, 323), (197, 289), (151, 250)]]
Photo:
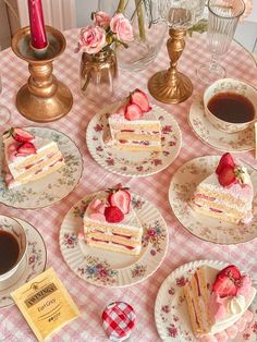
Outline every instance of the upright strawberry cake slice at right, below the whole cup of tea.
[(198, 184), (192, 208), (231, 223), (247, 224), (253, 219), (254, 188), (247, 169), (224, 154), (216, 172)]

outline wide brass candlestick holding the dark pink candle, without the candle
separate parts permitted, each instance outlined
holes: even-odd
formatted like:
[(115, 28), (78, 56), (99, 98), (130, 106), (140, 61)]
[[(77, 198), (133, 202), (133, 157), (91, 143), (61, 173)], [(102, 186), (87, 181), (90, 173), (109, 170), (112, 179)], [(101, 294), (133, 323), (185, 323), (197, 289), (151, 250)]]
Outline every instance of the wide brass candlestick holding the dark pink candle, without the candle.
[(19, 90), (16, 108), (28, 120), (50, 122), (65, 115), (72, 108), (70, 89), (52, 75), (52, 62), (65, 49), (64, 36), (56, 28), (46, 26), (48, 46), (36, 50), (30, 46), (29, 26), (19, 29), (12, 39), (13, 52), (28, 62), (30, 76)]

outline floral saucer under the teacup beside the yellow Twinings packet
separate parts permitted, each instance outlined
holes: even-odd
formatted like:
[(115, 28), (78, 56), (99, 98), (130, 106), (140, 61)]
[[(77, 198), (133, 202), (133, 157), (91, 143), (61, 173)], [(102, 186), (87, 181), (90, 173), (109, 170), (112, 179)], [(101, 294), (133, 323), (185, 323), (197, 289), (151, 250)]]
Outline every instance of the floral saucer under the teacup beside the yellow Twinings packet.
[(25, 229), (28, 240), (27, 253), (17, 271), (9, 279), (0, 282), (0, 309), (13, 305), (14, 302), (10, 293), (40, 274), (47, 264), (47, 248), (40, 233), (30, 223), (17, 218), (14, 219)]

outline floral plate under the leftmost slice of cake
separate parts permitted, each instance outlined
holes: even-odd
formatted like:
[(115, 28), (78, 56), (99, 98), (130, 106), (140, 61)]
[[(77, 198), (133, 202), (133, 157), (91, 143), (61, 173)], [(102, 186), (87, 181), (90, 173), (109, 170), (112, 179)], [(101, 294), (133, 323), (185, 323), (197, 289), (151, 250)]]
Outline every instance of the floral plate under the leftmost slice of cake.
[[(78, 183), (83, 172), (82, 155), (75, 143), (61, 132), (47, 127), (26, 130), (34, 135), (57, 142), (65, 166), (41, 180), (9, 190), (4, 181), (4, 170), (0, 164), (0, 203), (21, 209), (48, 207), (68, 196)], [(0, 160), (2, 152), (0, 149)]]

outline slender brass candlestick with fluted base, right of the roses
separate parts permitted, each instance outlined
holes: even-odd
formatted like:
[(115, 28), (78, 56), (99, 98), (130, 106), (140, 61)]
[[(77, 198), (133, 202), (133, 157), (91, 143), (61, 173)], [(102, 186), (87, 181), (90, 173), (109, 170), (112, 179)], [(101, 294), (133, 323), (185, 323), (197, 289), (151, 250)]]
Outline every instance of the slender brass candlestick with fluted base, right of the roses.
[(170, 38), (167, 49), (170, 57), (170, 68), (154, 74), (148, 81), (151, 96), (160, 102), (180, 103), (186, 100), (193, 91), (191, 80), (176, 70), (178, 61), (184, 50), (185, 29), (169, 29)]

